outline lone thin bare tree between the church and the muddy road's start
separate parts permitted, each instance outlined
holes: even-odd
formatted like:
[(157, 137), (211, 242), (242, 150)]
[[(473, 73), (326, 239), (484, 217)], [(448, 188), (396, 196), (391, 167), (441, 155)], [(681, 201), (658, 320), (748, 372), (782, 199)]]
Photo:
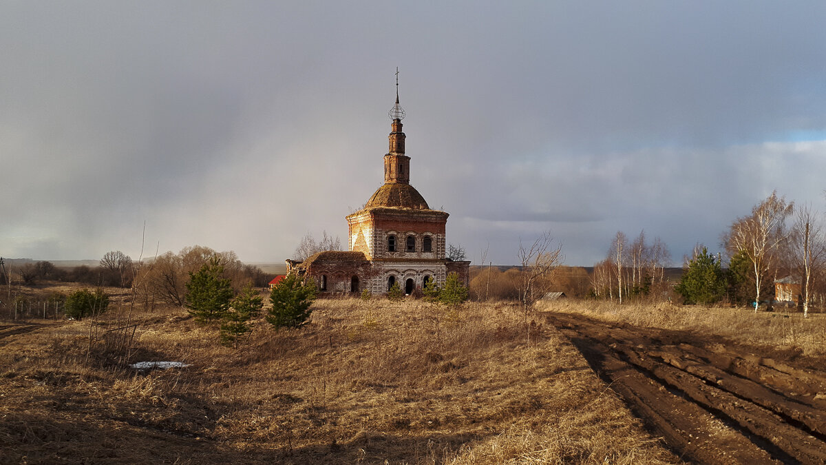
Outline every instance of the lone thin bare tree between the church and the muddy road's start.
[(520, 239), (517, 254), (521, 265), (519, 295), (525, 310), (525, 318), (534, 301), (547, 292), (547, 278), (562, 262), (562, 246), (554, 247), (553, 242), (553, 237), (548, 231), (537, 237), (529, 247)]

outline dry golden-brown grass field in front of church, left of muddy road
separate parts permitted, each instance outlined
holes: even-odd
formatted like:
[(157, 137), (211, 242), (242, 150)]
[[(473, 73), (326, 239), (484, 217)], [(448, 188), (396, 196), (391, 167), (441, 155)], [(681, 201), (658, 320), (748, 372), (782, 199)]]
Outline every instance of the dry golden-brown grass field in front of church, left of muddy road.
[[(183, 309), (0, 322), (3, 463), (677, 463), (512, 304), (319, 300), (239, 350)], [(539, 320), (538, 320), (539, 321)]]

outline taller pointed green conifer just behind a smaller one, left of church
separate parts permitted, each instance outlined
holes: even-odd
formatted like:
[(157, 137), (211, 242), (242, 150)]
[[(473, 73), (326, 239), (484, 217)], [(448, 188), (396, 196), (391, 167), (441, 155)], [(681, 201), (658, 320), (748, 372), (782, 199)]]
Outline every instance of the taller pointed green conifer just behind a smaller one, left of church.
[(221, 316), (230, 307), (232, 285), (222, 277), (224, 266), (221, 259), (213, 256), (197, 273), (189, 272), (186, 306), (189, 314), (199, 323), (208, 324)]

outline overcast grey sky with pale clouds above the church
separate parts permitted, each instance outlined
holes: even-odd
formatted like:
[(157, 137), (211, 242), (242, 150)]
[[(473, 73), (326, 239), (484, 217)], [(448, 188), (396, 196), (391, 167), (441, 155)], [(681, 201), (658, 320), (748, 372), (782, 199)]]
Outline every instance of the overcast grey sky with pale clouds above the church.
[[(282, 261), (383, 182), (468, 258), (617, 231), (675, 265), (773, 189), (824, 210), (826, 2), (0, 2), (0, 255)], [(142, 239), (145, 224), (145, 239)]]

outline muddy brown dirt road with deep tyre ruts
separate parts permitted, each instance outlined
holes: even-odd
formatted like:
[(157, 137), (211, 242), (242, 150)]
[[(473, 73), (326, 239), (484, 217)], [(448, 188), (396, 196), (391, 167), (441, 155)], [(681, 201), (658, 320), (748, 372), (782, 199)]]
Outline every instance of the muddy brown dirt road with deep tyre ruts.
[(826, 463), (826, 372), (719, 338), (546, 313), (649, 429), (697, 463)]

